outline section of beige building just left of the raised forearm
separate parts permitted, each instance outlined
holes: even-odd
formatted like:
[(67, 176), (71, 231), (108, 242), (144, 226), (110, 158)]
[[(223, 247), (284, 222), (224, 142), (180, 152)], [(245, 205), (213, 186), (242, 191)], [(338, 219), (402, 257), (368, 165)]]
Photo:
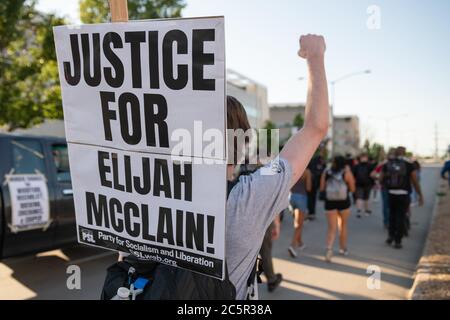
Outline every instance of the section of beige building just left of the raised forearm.
[(297, 115), (305, 118), (305, 105), (302, 103), (284, 103), (270, 105), (270, 121), (280, 129), (280, 142), (283, 144), (297, 131), (294, 119)]

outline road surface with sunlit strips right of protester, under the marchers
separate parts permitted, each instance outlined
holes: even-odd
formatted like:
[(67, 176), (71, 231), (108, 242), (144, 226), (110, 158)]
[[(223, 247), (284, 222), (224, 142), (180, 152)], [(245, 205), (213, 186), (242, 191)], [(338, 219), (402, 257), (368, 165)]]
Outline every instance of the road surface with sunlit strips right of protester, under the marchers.
[[(307, 248), (292, 259), (287, 252), (293, 232), (291, 215), (285, 216), (281, 236), (274, 243), (275, 271), (283, 274), (284, 281), (273, 293), (265, 284), (259, 288), (261, 299), (406, 299), (413, 284), (416, 265), (422, 254), (428, 232), (437, 188), (438, 168), (425, 167), (422, 189), (425, 206), (413, 208), (410, 236), (404, 248), (393, 249), (385, 244), (381, 202), (372, 203), (370, 217), (349, 219), (349, 251), (347, 257), (336, 252), (333, 263), (324, 261), (326, 217), (323, 202), (318, 202), (317, 219), (306, 223), (304, 242)], [(381, 201), (381, 200), (380, 200)], [(338, 242), (335, 242), (338, 250)], [(379, 289), (373, 288), (367, 269), (379, 268)], [(369, 281), (369, 286), (368, 286)]]

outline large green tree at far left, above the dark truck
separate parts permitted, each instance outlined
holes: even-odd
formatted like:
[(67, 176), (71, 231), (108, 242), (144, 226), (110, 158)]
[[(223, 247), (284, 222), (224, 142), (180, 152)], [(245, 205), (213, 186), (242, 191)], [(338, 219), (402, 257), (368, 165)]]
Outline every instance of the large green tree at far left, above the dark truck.
[(16, 13), (13, 29), (0, 30), (8, 38), (0, 51), (0, 125), (10, 131), (63, 115), (52, 27), (65, 21), (37, 11), (34, 1)]

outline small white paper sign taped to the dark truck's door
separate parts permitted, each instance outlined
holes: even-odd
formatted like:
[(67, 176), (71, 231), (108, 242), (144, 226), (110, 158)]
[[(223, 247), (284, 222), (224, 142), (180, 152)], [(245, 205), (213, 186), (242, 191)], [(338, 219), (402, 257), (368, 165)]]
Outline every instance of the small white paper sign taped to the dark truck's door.
[(8, 175), (12, 228), (39, 228), (49, 220), (48, 189), (42, 174)]

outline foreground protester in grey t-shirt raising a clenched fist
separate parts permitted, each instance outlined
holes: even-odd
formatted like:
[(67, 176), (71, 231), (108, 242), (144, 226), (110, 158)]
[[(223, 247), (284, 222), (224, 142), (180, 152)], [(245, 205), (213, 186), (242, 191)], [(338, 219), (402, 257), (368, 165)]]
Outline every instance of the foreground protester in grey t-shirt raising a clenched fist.
[[(301, 36), (298, 55), (306, 59), (309, 75), (303, 128), (289, 139), (276, 159), (236, 181), (232, 180), (237, 154), (244, 148), (235, 141), (245, 139), (235, 136), (227, 140), (232, 144), (228, 149), (233, 158), (227, 165), (224, 281), (122, 254), (123, 261), (108, 269), (103, 299), (111, 299), (120, 284), (131, 286), (138, 280), (137, 285), (143, 288), (141, 299), (257, 299), (255, 265), (264, 234), (275, 216), (288, 206), (290, 189), (329, 129), (324, 38)], [(227, 128), (236, 135), (239, 131), (244, 134), (250, 128), (244, 107), (231, 96), (226, 104)]]

